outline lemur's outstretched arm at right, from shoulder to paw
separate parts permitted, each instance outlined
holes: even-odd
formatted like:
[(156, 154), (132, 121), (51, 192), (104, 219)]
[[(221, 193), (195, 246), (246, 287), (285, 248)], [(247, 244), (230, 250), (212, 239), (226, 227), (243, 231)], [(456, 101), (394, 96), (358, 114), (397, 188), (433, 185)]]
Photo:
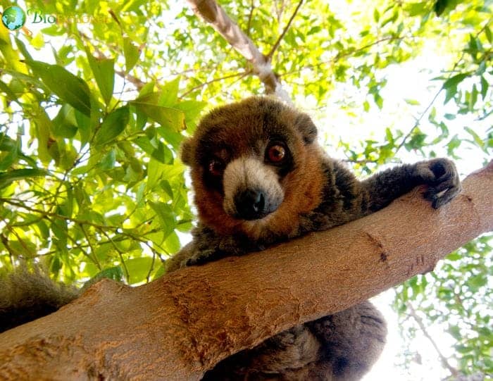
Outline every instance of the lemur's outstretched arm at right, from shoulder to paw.
[(435, 158), (399, 165), (359, 181), (345, 165), (325, 161), (327, 184), (323, 201), (301, 218), (300, 234), (327, 230), (379, 211), (418, 185), (428, 185), (423, 196), (433, 208), (447, 204), (461, 191), (461, 182), (452, 161)]

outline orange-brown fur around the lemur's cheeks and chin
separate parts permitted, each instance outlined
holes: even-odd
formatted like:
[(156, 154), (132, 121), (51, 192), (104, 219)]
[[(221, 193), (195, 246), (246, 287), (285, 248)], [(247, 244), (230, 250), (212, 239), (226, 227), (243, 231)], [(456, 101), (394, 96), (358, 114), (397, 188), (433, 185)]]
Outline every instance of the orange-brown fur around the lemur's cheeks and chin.
[(318, 146), (305, 146), (299, 142), (295, 149), (297, 169), (282, 179), (284, 201), (265, 221), (253, 225), (228, 216), (223, 209), (223, 197), (218, 192), (206, 189), (201, 181), (200, 171), (194, 170), (192, 180), (201, 222), (220, 235), (243, 232), (252, 239), (273, 234), (293, 235), (298, 228), (300, 214), (313, 211), (320, 204), (324, 183)]

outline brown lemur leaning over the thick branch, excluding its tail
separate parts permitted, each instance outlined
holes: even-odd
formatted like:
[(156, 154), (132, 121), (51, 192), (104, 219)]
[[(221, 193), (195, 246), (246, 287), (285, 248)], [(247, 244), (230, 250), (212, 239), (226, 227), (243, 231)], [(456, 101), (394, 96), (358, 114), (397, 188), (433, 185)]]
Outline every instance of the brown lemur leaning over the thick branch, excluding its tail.
[[(311, 119), (267, 98), (218, 108), (182, 147), (199, 225), (168, 271), (258, 251), (387, 206), (417, 185), (438, 208), (460, 190), (454, 164), (434, 159), (358, 181), (316, 144)], [(204, 380), (358, 380), (385, 342), (380, 313), (364, 302), (293, 327), (218, 363)]]

